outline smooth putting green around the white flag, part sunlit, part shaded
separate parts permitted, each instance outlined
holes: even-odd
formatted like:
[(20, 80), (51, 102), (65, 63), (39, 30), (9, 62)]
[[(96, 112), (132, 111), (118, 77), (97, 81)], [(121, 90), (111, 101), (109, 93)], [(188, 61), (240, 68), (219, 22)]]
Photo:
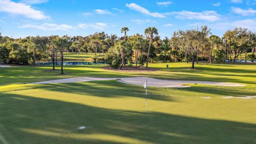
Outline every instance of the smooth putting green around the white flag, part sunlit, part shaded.
[(147, 111), (141, 86), (114, 81), (1, 93), (1, 136), (9, 143), (256, 142), (256, 99), (148, 92)]

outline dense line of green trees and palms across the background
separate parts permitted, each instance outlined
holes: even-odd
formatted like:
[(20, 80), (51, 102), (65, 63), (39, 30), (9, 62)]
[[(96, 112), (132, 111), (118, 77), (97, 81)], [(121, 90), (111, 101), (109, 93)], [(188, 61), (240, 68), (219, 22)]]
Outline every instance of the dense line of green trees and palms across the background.
[[(36, 61), (52, 61), (53, 70), (65, 52), (74, 54), (95, 53), (104, 55), (113, 68), (124, 65), (148, 68), (148, 62), (191, 61), (191, 68), (199, 60), (211, 63), (242, 60), (254, 61), (256, 34), (246, 28), (227, 30), (223, 37), (212, 35), (207, 26), (174, 31), (171, 38), (161, 39), (155, 27), (145, 29), (145, 35), (127, 36), (129, 28), (123, 27), (122, 37), (104, 32), (89, 36), (36, 36), (26, 38), (4, 37), (0, 33), (0, 63), (36, 65)], [(247, 54), (250, 53), (250, 54)], [(97, 57), (96, 57), (97, 59)], [(239, 61), (238, 60), (238, 61)]]

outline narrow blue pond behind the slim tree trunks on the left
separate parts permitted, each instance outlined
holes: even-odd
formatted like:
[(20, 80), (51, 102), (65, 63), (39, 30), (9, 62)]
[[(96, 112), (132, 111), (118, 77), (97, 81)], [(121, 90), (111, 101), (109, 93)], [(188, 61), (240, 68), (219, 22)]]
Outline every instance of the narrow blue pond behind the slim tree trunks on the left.
[[(64, 66), (79, 66), (79, 65), (107, 65), (107, 62), (90, 62), (90, 61), (65, 61)], [(36, 65), (39, 66), (51, 66), (52, 62), (37, 62)], [(55, 62), (55, 65), (61, 65), (61, 62)]]

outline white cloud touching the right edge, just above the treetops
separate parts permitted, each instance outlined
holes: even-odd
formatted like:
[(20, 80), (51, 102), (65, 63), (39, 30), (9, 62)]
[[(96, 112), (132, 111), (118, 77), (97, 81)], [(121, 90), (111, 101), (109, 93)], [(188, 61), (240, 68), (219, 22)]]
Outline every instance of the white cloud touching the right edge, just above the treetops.
[(213, 29), (219, 30), (227, 30), (234, 29), (235, 27), (247, 28), (249, 30), (256, 30), (256, 20), (255, 19), (245, 19), (245, 20), (237, 20), (231, 22), (220, 22), (209, 25)]

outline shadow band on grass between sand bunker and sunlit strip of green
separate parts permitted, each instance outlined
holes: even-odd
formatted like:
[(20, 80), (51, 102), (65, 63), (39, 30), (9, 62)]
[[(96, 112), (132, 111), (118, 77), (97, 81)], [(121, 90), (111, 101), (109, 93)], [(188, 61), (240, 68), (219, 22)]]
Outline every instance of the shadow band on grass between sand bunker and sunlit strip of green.
[[(49, 87), (46, 87), (49, 85)], [(120, 98), (134, 97), (145, 98), (145, 89), (142, 86), (123, 84), (117, 81), (93, 81), (82, 83), (45, 84), (47, 91), (63, 91), (68, 93), (92, 95), (93, 97)], [(68, 90), (68, 91), (67, 91)], [(148, 99), (161, 101), (175, 101), (168, 95), (148, 94)]]

